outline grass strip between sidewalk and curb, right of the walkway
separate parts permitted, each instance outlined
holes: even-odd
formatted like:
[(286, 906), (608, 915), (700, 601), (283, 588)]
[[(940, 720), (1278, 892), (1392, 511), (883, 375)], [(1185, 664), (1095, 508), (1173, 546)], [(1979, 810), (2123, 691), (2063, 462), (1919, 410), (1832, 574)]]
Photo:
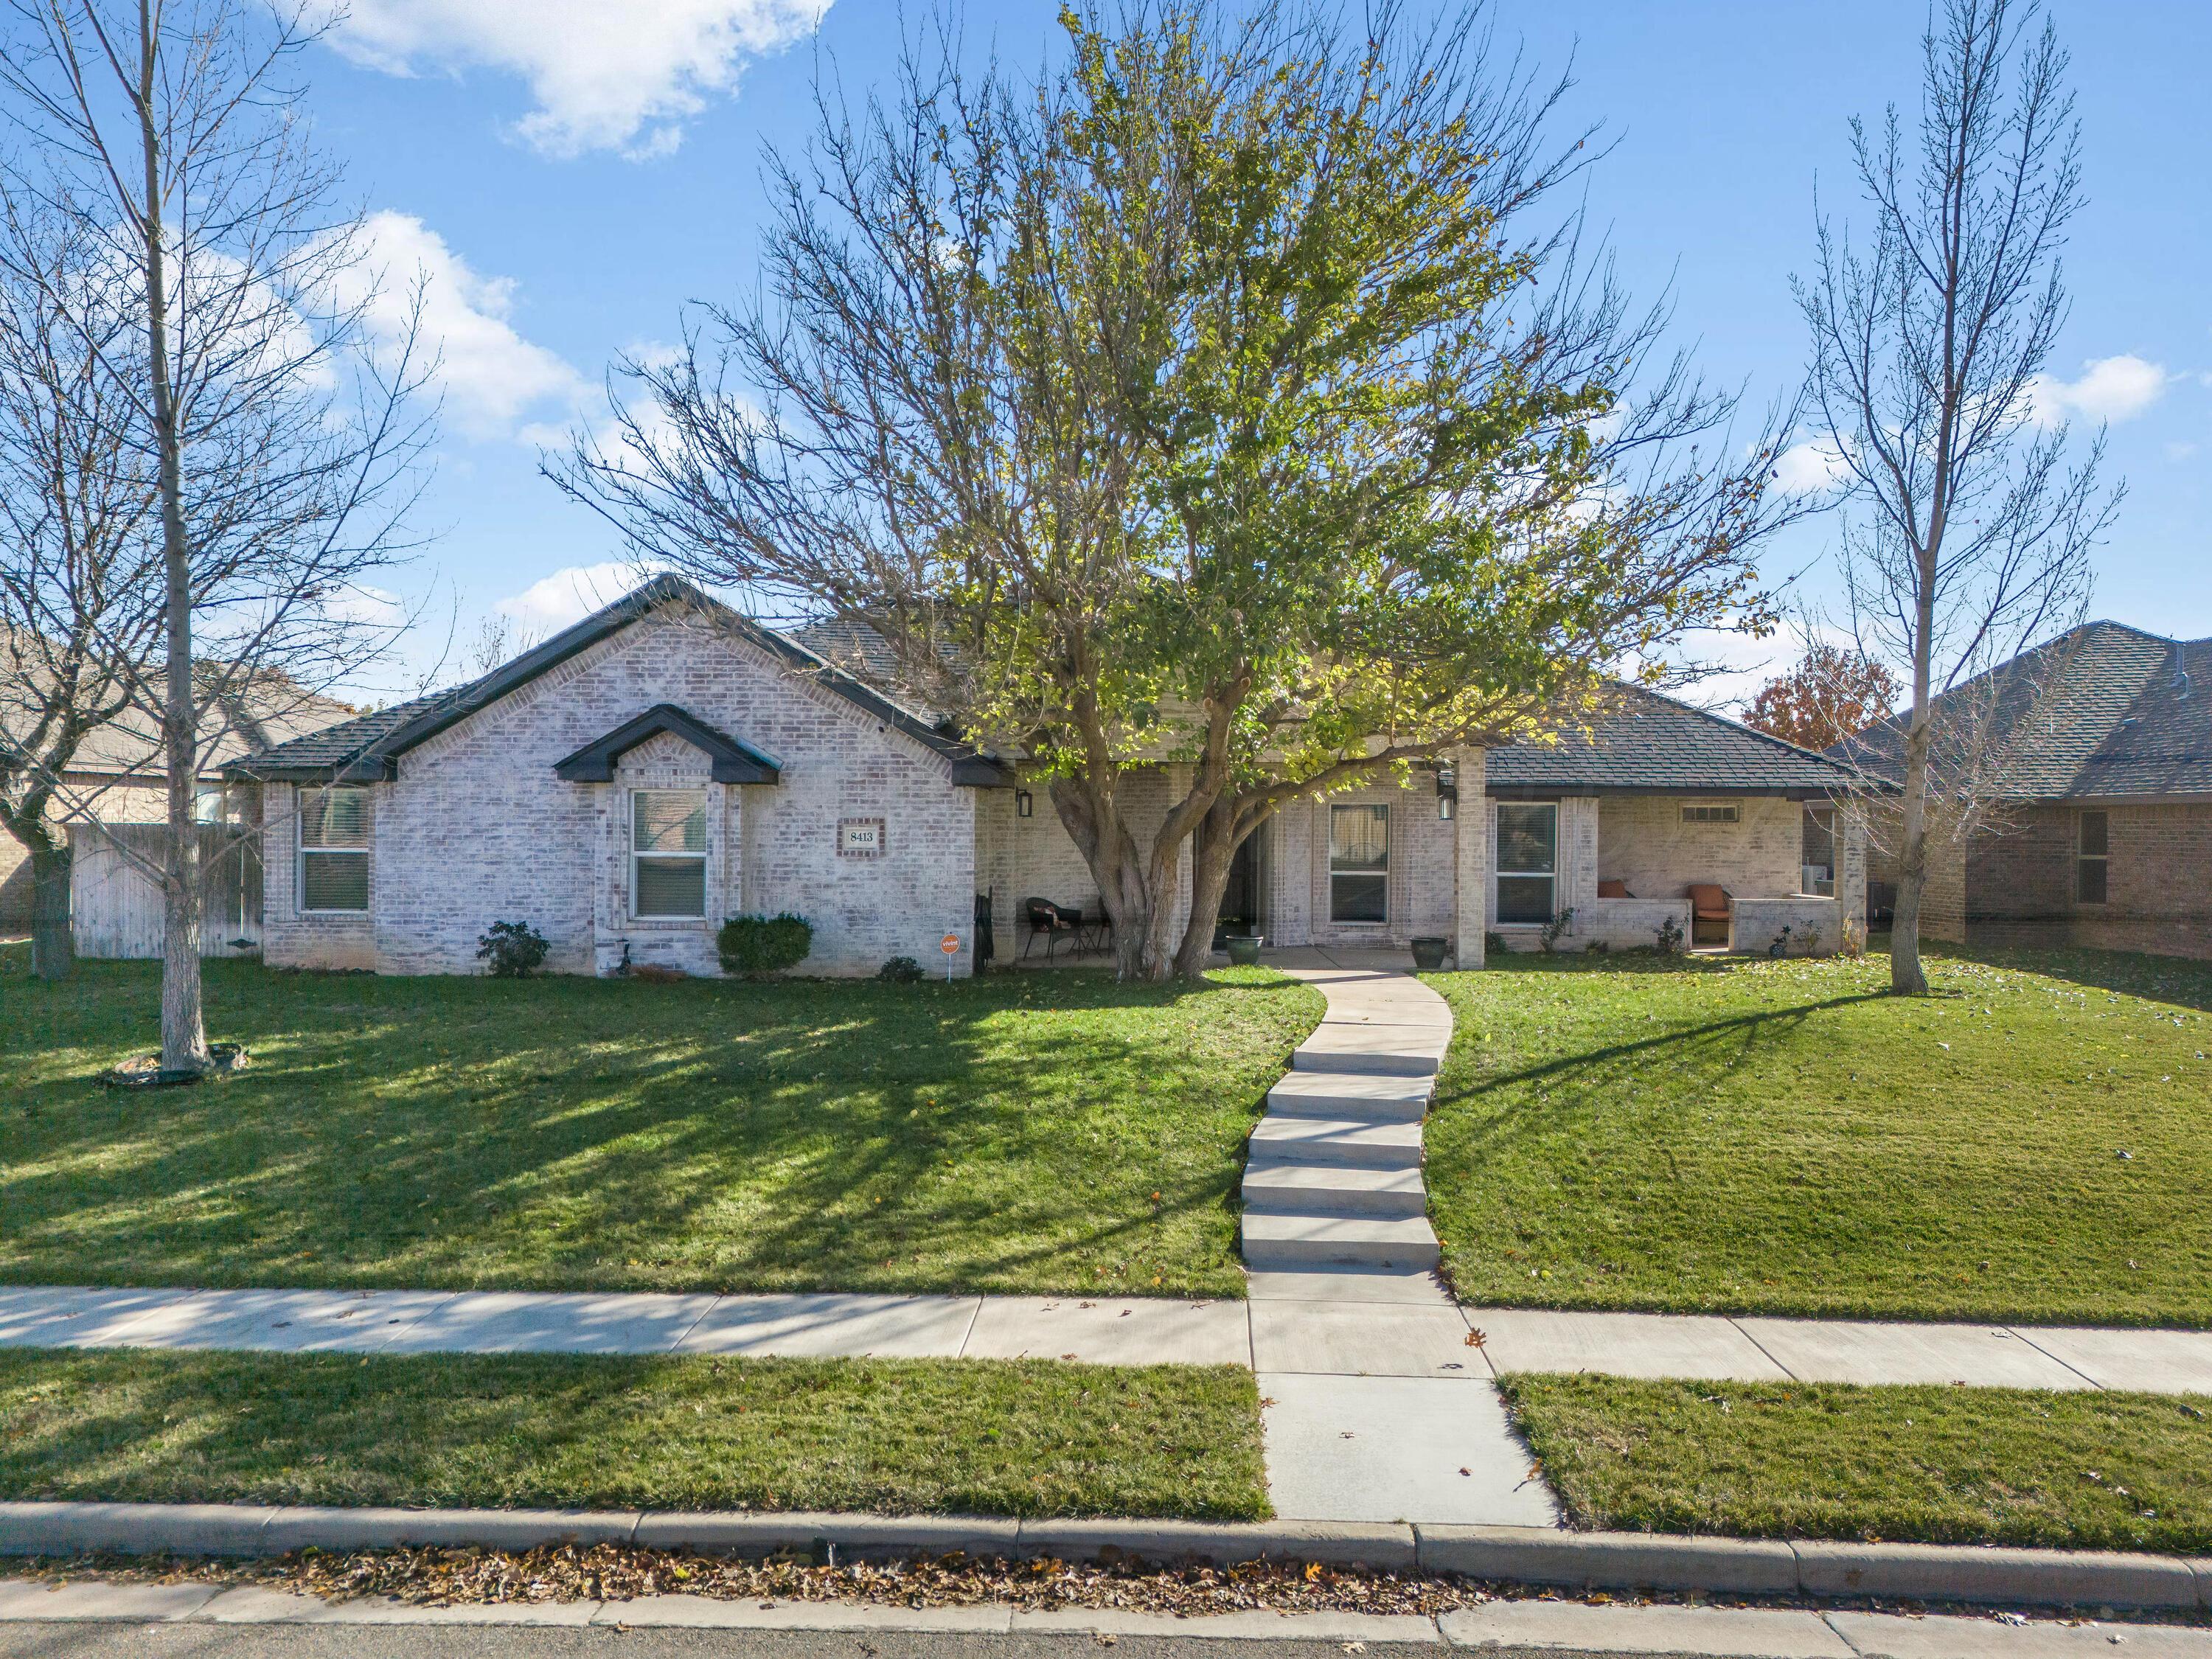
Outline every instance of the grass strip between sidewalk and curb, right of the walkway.
[(1500, 1387), (1575, 1526), (2212, 1551), (2212, 1400), (1610, 1376)]

